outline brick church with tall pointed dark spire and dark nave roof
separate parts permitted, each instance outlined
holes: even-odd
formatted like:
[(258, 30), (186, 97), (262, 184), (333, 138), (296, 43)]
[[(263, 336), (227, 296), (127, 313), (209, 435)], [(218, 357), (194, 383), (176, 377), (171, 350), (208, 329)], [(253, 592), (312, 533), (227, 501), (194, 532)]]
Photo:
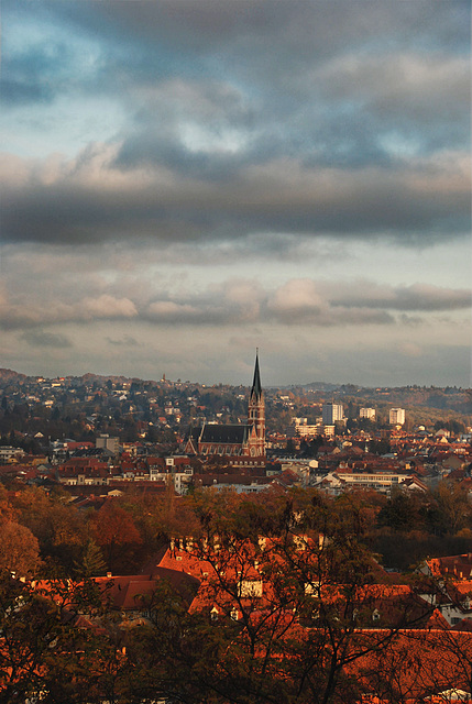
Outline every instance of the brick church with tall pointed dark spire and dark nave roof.
[(202, 457), (224, 457), (229, 464), (238, 468), (265, 464), (265, 403), (257, 354), (249, 397), (248, 422), (227, 426), (205, 424), (201, 428), (194, 428), (185, 452)]

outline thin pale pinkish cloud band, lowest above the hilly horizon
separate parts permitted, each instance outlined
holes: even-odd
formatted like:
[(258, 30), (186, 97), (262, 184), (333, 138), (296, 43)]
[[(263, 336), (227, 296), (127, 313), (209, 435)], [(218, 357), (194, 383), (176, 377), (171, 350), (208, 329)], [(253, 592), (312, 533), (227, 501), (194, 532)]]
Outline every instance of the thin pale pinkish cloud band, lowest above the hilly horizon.
[[(90, 282), (88, 287), (90, 286)], [(97, 286), (99, 289), (100, 286)], [(120, 282), (116, 288), (123, 288)], [(147, 321), (158, 326), (245, 326), (273, 322), (282, 326), (319, 327), (393, 324), (405, 321), (400, 314), (426, 320), (429, 314), (464, 311), (471, 306), (471, 289), (441, 288), (428, 284), (386, 286), (370, 280), (316, 282), (290, 279), (268, 289), (256, 279), (229, 279), (200, 290), (172, 294), (136, 292), (134, 300), (98, 292), (67, 302), (68, 293), (54, 290), (51, 300), (34, 301), (33, 295), (18, 292), (15, 300), (4, 297), (0, 326), (4, 329), (84, 324), (99, 320)], [(74, 292), (77, 297), (77, 292)], [(58, 298), (62, 299), (58, 302)]]

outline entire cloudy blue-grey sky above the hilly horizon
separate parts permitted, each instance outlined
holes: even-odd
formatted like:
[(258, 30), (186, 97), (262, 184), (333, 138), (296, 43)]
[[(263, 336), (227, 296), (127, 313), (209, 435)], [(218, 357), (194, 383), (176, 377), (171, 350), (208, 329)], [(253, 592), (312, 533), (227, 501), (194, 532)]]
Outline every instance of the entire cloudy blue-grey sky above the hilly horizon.
[(471, 385), (470, 2), (2, 1), (0, 366)]

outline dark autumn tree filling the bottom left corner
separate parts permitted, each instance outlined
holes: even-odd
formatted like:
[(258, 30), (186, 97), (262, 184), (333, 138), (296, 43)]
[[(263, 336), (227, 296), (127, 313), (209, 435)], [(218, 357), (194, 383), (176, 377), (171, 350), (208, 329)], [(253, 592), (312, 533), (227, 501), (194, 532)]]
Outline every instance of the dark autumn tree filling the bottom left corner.
[[(91, 618), (86, 628), (83, 613)], [(1, 573), (0, 703), (129, 702), (123, 636), (90, 581), (30, 583)]]

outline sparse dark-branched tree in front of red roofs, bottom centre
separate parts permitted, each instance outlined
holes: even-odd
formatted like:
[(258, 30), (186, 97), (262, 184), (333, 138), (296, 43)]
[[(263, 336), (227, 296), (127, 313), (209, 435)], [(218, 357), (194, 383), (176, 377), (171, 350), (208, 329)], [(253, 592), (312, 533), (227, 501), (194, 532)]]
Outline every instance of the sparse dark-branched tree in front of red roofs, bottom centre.
[[(405, 604), (378, 638), (359, 628), (363, 614), (372, 624), (376, 579), (362, 542), (365, 506), (316, 493), (267, 505), (227, 494), (221, 504), (202, 499), (199, 510), (201, 537), (188, 547), (207, 575), (198, 607), (185, 626), (174, 616), (172, 645), (163, 646), (161, 630), (149, 634), (146, 651), (168, 647), (186, 683), (178, 697), (175, 680), (166, 694), (215, 704), (355, 701), (353, 663), (417, 618)], [(146, 668), (153, 671), (149, 658)]]

